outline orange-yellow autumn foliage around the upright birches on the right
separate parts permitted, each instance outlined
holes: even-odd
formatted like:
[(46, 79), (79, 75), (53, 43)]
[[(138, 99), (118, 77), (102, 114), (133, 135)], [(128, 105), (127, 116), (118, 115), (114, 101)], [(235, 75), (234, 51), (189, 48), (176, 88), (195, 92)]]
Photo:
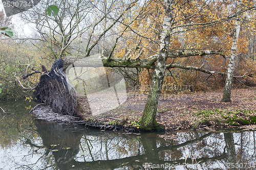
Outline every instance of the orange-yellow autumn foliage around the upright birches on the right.
[[(204, 1), (182, 3), (183, 1), (180, 1), (180, 4), (178, 3), (173, 7), (175, 23), (171, 34), (172, 36), (170, 37), (169, 51), (221, 50), (227, 57), (230, 55), (236, 18), (231, 20), (225, 19), (232, 15), (232, 13), (238, 12), (238, 5), (241, 5), (242, 9), (247, 9), (255, 5), (253, 1), (246, 0), (240, 1), (241, 4), (236, 4), (236, 2), (231, 0), (209, 1), (208, 4), (205, 4)], [(127, 45), (124, 45), (125, 43), (123, 42), (118, 44), (117, 56), (125, 56), (127, 52), (133, 48), (134, 44), (139, 44), (139, 48), (133, 51), (130, 55), (131, 58), (136, 58), (141, 51), (143, 51), (143, 53), (140, 59), (145, 59), (157, 54), (159, 51), (163, 16), (164, 8), (159, 1), (148, 2), (147, 8), (144, 9), (144, 14), (142, 13), (141, 17), (138, 17), (136, 21), (130, 25), (133, 31), (125, 32), (123, 36), (124, 39), (126, 39), (125, 42), (127, 42)], [(256, 33), (256, 22), (254, 18), (256, 18), (254, 11), (248, 11), (240, 15), (242, 27), (239, 41), (237, 42), (237, 53), (242, 53), (244, 58), (246, 58), (246, 54), (249, 52), (251, 36), (255, 36)], [(132, 19), (133, 18), (125, 20), (125, 23), (130, 23)], [(212, 25), (204, 27), (203, 23), (207, 22), (212, 22)], [(189, 58), (168, 59), (167, 64), (170, 63), (226, 72), (228, 58), (223, 58), (219, 55), (203, 57), (193, 56)], [(238, 75), (243, 74), (246, 70), (253, 67), (253, 65), (250, 65), (250, 68), (245, 67), (246, 65), (243, 66), (243, 69), (235, 70)], [(220, 75), (210, 76), (199, 71), (182, 70), (179, 68), (171, 69), (170, 71), (166, 70), (165, 75), (163, 91), (168, 91), (170, 87), (186, 84), (193, 84), (195, 88), (199, 90), (219, 88), (222, 87), (225, 81), (224, 77)], [(153, 70), (141, 70), (139, 75), (141, 92), (148, 91), (152, 76)], [(169, 90), (169, 92), (172, 91), (173, 90)]]

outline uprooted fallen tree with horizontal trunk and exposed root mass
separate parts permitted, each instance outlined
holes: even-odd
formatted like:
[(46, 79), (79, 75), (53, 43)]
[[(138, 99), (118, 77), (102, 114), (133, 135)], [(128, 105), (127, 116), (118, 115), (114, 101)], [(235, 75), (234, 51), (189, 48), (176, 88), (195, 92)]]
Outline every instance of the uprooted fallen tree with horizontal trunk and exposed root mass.
[[(191, 56), (204, 56), (204, 55), (222, 55), (221, 51), (198, 51), (198, 52), (187, 52), (187, 53), (169, 53), (168, 58), (177, 57), (191, 57)], [(99, 56), (100, 57), (100, 56)], [(54, 112), (61, 114), (76, 114), (77, 107), (77, 96), (76, 90), (70, 83), (66, 76), (66, 70), (69, 66), (79, 67), (97, 67), (98, 57), (95, 60), (96, 64), (88, 63), (88, 60), (82, 60), (86, 56), (70, 56), (61, 59), (57, 59), (53, 62), (51, 69), (45, 74), (42, 74), (39, 83), (34, 89), (34, 96), (38, 103), (44, 103), (51, 106)], [(90, 56), (88, 57), (90, 58)], [(110, 58), (102, 57), (102, 63), (104, 67), (133, 67), (133, 68), (151, 68), (156, 67), (157, 56), (154, 55), (148, 59), (131, 59), (126, 58)], [(83, 62), (84, 61), (84, 62)], [(205, 72), (207, 74), (218, 74), (226, 75), (225, 72), (206, 70), (195, 66), (183, 66), (180, 64), (169, 64), (166, 65), (166, 69), (170, 68), (183, 68), (183, 69), (194, 69)], [(41, 73), (40, 71), (34, 71), (33, 73)], [(32, 74), (31, 74), (32, 75)], [(29, 75), (29, 76), (31, 76)], [(26, 76), (28, 77), (28, 76)], [(24, 77), (23, 77), (24, 78)], [(239, 77), (241, 78), (241, 77)]]

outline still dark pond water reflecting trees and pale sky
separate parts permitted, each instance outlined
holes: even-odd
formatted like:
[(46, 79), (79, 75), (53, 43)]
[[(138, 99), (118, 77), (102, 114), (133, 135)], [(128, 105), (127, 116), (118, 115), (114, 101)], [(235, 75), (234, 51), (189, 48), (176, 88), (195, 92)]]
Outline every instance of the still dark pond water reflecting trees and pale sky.
[(254, 131), (101, 131), (35, 120), (30, 105), (1, 103), (14, 113), (0, 115), (1, 170), (256, 169)]

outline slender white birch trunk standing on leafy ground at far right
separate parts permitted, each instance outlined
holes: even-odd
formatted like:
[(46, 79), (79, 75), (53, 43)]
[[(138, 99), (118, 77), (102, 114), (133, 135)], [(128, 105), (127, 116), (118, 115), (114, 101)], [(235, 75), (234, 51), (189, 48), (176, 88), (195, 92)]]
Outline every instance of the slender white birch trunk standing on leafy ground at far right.
[(237, 40), (240, 32), (241, 23), (239, 20), (236, 22), (236, 27), (234, 29), (233, 34), (233, 44), (231, 48), (231, 53), (229, 57), (229, 63), (227, 68), (227, 77), (225, 82), (225, 87), (223, 91), (223, 97), (221, 102), (231, 102), (230, 95), (231, 95), (231, 86), (233, 80), (233, 71), (234, 71), (234, 58), (236, 57), (237, 52)]

